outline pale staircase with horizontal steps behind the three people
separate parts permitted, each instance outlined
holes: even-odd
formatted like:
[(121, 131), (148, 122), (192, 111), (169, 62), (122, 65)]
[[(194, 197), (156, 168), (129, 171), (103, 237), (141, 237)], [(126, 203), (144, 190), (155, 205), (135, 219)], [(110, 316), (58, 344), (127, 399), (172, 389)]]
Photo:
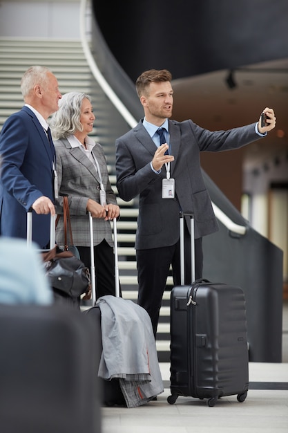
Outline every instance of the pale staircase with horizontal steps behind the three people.
[[(59, 82), (62, 94), (83, 91), (93, 100), (95, 130), (92, 138), (104, 147), (111, 184), (115, 186), (115, 139), (130, 127), (119, 115), (99, 84), (95, 81), (86, 62), (79, 40), (58, 39), (1, 39), (0, 38), (0, 130), (6, 118), (23, 106), (20, 80), (33, 64), (48, 66)], [(137, 228), (137, 199), (124, 202), (119, 197), (121, 219), (117, 223), (119, 243), (119, 279), (125, 299), (137, 301), (137, 270), (135, 261), (135, 232)], [(157, 333), (157, 352), (160, 362), (169, 361), (170, 288), (172, 277), (167, 281), (160, 323)]]

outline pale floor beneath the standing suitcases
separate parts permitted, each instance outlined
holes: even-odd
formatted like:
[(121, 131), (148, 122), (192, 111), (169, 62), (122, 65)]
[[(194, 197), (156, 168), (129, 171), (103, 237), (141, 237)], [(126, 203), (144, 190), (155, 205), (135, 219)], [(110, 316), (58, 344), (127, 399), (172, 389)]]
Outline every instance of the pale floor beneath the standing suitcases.
[[(169, 363), (160, 363), (164, 393), (148, 405), (102, 408), (102, 433), (287, 433), (288, 432), (288, 302), (283, 311), (282, 364), (249, 364), (249, 389), (244, 403), (236, 396), (208, 407), (204, 400), (178, 397), (169, 391)], [(260, 389), (261, 388), (261, 389)]]

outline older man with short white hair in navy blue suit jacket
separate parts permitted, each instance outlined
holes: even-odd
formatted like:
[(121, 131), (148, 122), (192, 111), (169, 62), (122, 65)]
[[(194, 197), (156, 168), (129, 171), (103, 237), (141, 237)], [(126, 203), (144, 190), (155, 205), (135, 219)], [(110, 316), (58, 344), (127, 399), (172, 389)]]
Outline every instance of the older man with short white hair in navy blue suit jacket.
[(0, 233), (26, 237), (26, 214), (32, 208), (32, 240), (46, 248), (50, 215), (55, 215), (55, 149), (46, 120), (57, 111), (58, 82), (48, 68), (31, 66), (21, 80), (25, 102), (12, 114), (0, 136)]

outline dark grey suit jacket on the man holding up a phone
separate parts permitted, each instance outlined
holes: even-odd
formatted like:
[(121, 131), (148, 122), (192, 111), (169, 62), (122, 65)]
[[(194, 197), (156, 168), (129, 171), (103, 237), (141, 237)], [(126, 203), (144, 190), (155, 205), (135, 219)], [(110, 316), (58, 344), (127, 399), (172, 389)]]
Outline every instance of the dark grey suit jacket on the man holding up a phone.
[(195, 238), (218, 230), (211, 199), (204, 185), (200, 151), (238, 149), (258, 140), (255, 123), (229, 131), (208, 131), (191, 120), (169, 120), (171, 178), (175, 178), (175, 199), (162, 199), (162, 179), (151, 169), (155, 144), (142, 125), (116, 140), (116, 173), (119, 196), (129, 201), (140, 194), (136, 249), (175, 244), (180, 237), (179, 212), (194, 212)]

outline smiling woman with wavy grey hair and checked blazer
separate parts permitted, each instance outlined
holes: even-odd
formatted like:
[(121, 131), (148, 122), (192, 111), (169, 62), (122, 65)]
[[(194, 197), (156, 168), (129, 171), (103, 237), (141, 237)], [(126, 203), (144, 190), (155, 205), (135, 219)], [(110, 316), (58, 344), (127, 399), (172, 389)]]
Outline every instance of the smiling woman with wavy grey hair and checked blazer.
[[(95, 281), (97, 298), (115, 295), (113, 239), (110, 221), (119, 216), (119, 206), (108, 177), (104, 150), (88, 136), (95, 115), (89, 95), (66, 93), (50, 121), (56, 151), (59, 203), (68, 196), (74, 245), (81, 261), (90, 268), (90, 230), (88, 212), (93, 216)], [(60, 216), (56, 230), (58, 245), (64, 245), (64, 221)]]

